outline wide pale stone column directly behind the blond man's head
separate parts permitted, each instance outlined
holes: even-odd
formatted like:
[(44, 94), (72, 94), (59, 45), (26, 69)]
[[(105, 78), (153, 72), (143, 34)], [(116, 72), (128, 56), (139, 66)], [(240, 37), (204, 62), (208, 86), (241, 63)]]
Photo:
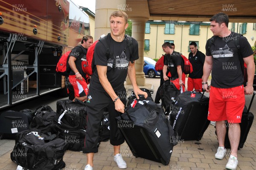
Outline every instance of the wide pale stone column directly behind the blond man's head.
[(107, 35), (110, 32), (109, 17), (111, 13), (120, 10), (125, 4), (126, 0), (96, 0), (94, 40), (98, 40), (102, 34)]

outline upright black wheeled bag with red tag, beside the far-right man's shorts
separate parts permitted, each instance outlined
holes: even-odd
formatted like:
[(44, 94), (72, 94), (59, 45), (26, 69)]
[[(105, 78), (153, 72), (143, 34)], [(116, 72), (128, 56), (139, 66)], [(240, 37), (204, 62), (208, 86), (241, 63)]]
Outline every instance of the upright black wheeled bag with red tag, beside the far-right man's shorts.
[(209, 98), (198, 91), (186, 91), (175, 98), (169, 119), (182, 140), (201, 140), (210, 121), (207, 120)]

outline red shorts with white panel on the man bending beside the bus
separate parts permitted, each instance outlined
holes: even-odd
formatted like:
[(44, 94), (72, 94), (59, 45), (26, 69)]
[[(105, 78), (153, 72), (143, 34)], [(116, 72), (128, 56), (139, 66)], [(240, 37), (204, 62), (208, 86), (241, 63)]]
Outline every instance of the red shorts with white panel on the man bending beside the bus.
[(75, 97), (84, 97), (88, 93), (87, 83), (83, 80), (76, 79), (76, 75), (70, 75), (68, 77), (70, 84), (72, 84), (74, 88)]

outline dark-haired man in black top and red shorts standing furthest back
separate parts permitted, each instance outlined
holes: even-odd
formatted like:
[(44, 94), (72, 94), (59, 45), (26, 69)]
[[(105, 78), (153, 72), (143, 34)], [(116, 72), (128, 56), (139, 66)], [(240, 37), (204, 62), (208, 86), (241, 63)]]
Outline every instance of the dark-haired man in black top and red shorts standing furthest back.
[(189, 74), (188, 91), (200, 90), (202, 92), (202, 76), (205, 55), (197, 49), (197, 44), (191, 42), (189, 44), (189, 62), (192, 64), (193, 72)]

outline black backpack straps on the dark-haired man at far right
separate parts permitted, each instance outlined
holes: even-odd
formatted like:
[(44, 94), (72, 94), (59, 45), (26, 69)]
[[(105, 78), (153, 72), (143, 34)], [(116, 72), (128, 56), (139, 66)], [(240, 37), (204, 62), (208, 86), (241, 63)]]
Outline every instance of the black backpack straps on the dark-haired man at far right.
[[(247, 84), (247, 67), (244, 64), (244, 60), (241, 56), (241, 51), (240, 51), (240, 43), (239, 43), (239, 39), (241, 36), (241, 34), (239, 33), (235, 33), (235, 32), (231, 32), (231, 35), (235, 35), (232, 38), (228, 38), (227, 40), (225, 40), (226, 43), (230, 42), (231, 40), (234, 40), (236, 48), (239, 51), (239, 61), (240, 61), (240, 66), (241, 66), (241, 71), (243, 73), (244, 76), (244, 86), (246, 86)], [(212, 44), (214, 44), (214, 41), (216, 40), (217, 36), (212, 36), (209, 40), (209, 44), (208, 44), (208, 49), (211, 48)]]

